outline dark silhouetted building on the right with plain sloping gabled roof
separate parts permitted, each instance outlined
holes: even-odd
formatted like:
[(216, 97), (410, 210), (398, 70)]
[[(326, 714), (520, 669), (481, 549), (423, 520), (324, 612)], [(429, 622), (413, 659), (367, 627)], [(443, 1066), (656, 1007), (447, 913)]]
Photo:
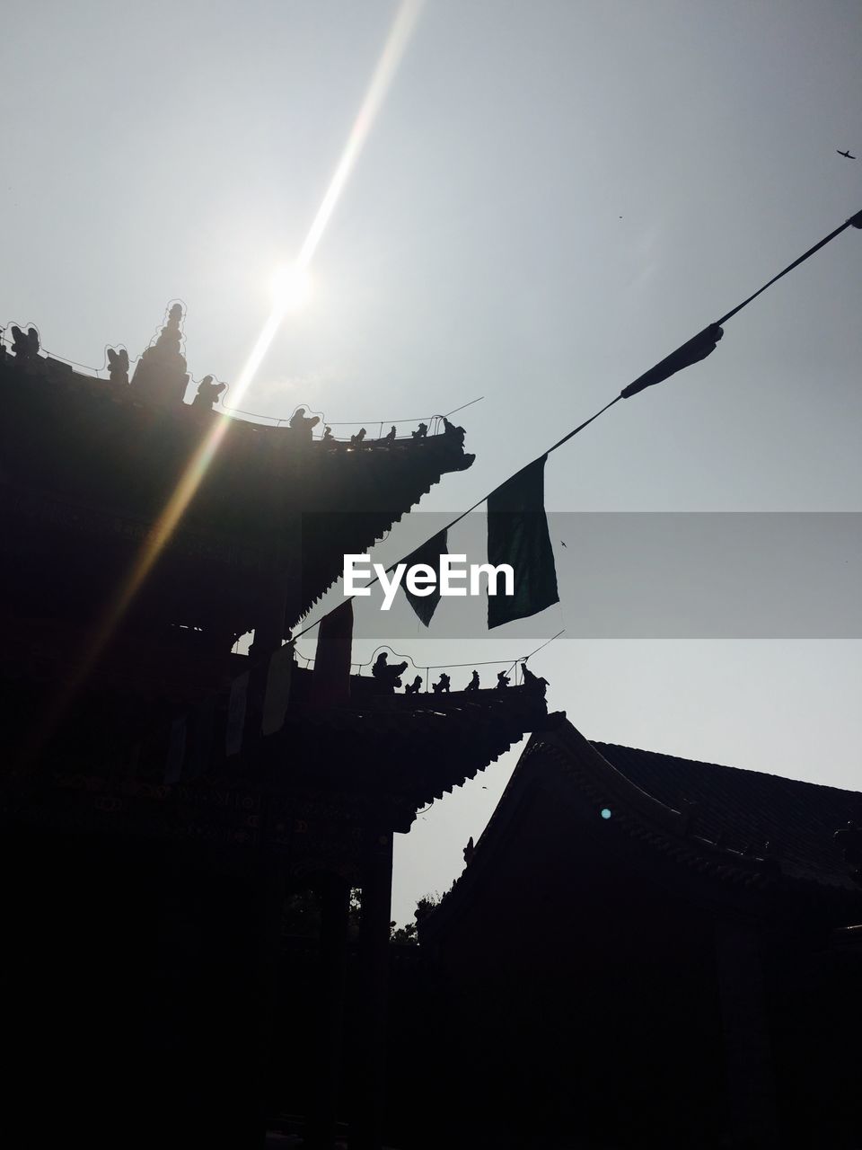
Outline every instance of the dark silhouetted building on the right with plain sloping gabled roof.
[(551, 719), (418, 921), (423, 1144), (862, 1145), (862, 795)]

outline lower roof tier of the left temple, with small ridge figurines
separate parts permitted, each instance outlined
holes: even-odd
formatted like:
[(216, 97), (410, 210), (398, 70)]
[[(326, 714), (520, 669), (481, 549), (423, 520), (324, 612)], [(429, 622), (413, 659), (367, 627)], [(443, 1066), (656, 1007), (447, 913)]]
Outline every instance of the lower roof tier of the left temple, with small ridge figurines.
[[(311, 673), (294, 675), (301, 697)], [(344, 707), (291, 703), (283, 728), (267, 737), (260, 735), (260, 714), (247, 713), (241, 752), (225, 757), (225, 703), (210, 708), (203, 727), (202, 712), (184, 715), (176, 776), (168, 777), (169, 727), (136, 730), (130, 715), (126, 743), (145, 745), (125, 745), (117, 731), (109, 761), (102, 756), (107, 769), (67, 747), (38, 789), (15, 792), (15, 819), (264, 848), (286, 853), (298, 869), (347, 873), (363, 828), (409, 830), (422, 806), (463, 785), (547, 721), (544, 687), (536, 684), (442, 697), (371, 692)]]

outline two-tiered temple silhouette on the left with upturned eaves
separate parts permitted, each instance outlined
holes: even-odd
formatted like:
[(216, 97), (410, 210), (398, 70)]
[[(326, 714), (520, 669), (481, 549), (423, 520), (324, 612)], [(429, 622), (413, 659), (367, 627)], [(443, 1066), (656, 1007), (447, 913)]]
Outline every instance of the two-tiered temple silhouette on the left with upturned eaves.
[[(34, 330), (0, 358), (0, 1122), (20, 1147), (49, 1128), (240, 1150), (290, 1096), (307, 1144), (343, 1118), (375, 1148), (393, 833), (540, 724), (544, 690), (395, 695), (351, 675), (349, 608), (314, 672), (295, 665), (282, 644), (344, 553), (472, 457), (448, 434), (232, 419), (207, 381), (186, 404), (182, 321), (175, 305), (131, 382), (128, 356), (95, 378)], [(298, 892), (320, 929), (291, 983)]]

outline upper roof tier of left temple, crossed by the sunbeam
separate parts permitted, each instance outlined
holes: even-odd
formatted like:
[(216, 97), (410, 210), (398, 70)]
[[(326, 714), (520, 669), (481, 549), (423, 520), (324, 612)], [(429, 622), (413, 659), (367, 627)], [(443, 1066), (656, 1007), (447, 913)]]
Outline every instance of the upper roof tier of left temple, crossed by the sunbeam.
[[(141, 619), (243, 634), (280, 582), (287, 635), (339, 577), (345, 552), (368, 551), (442, 475), (472, 462), (452, 425), (315, 439), (308, 425), (151, 401), (38, 355), (0, 358), (0, 396), (2, 529), (20, 552), (18, 613), (34, 618), (46, 604), (56, 618), (98, 610), (186, 491), (138, 596)], [(300, 551), (301, 570), (291, 562)]]

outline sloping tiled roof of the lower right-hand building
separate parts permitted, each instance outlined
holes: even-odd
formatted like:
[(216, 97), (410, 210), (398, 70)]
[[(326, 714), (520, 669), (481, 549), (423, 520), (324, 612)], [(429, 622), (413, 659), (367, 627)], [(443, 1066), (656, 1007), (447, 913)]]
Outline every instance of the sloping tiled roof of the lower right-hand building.
[[(526, 820), (531, 837), (541, 835), (536, 811), (547, 804), (560, 818), (545, 834), (560, 839), (556, 857), (568, 854), (578, 869), (585, 859), (602, 866), (610, 851), (632, 875), (678, 884), (687, 898), (755, 899), (761, 907), (763, 899), (772, 906), (801, 899), (839, 922), (857, 921), (862, 911), (862, 889), (834, 838), (862, 821), (862, 793), (591, 743), (564, 715), (551, 715), (525, 747), (469, 865), (431, 915), (429, 934), (480, 897), (497, 859), (511, 860), (515, 828)], [(524, 858), (521, 867), (531, 865)]]

